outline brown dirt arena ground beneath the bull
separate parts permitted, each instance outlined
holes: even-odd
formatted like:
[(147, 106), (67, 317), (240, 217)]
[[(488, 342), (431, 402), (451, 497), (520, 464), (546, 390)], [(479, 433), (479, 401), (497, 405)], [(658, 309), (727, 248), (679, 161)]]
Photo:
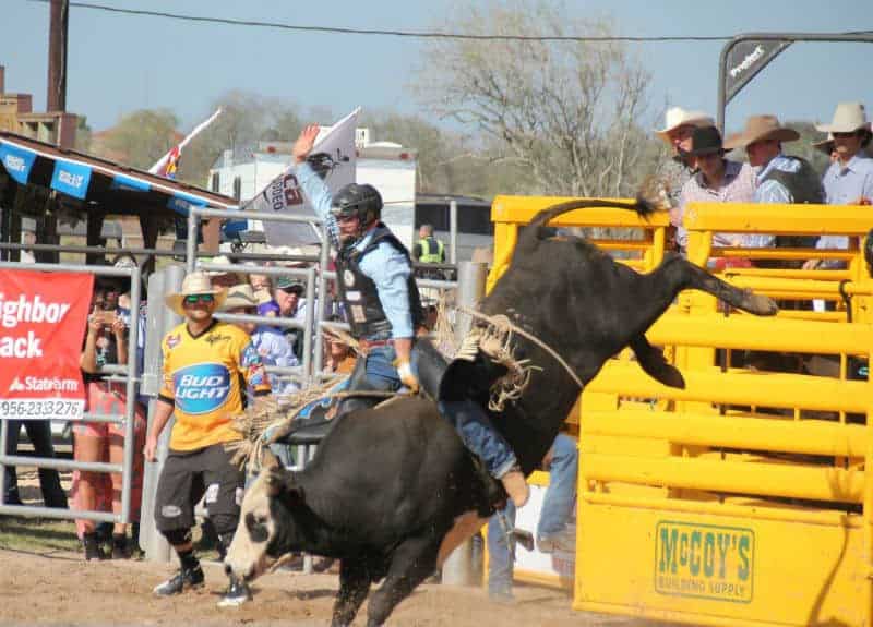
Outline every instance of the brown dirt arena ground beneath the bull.
[[(0, 551), (0, 625), (328, 625), (336, 575), (277, 571), (253, 584), (254, 599), (218, 608), (227, 583), (218, 564), (205, 565), (206, 587), (172, 599), (152, 588), (174, 566), (136, 560), (86, 563), (70, 552)], [(573, 612), (565, 592), (518, 586), (513, 605), (489, 601), (477, 588), (424, 584), (392, 615), (388, 625), (482, 627), (642, 626), (648, 622)], [(355, 625), (366, 624), (366, 605)]]

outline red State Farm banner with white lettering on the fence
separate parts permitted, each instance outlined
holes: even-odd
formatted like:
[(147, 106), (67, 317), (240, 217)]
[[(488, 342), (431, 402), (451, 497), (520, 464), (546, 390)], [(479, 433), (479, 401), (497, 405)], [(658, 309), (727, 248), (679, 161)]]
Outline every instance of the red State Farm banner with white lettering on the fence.
[(0, 419), (81, 419), (94, 275), (0, 269)]

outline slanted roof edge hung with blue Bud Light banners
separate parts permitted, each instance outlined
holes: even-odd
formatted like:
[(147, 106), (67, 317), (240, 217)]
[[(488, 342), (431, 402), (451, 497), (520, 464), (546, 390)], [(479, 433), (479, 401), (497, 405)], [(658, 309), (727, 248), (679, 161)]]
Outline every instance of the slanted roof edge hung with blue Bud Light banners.
[(236, 208), (229, 196), (208, 192), (108, 159), (0, 132), (0, 174), (20, 184), (51, 189), (111, 214), (188, 215), (191, 205)]

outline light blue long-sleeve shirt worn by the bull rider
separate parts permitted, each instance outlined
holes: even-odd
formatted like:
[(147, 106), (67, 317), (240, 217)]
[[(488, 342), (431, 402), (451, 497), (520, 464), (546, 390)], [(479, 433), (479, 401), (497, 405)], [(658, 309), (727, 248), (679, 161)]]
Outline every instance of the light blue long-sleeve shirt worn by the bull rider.
[[(297, 164), (295, 174), (315, 210), (315, 215), (324, 221), (331, 243), (339, 250), (339, 226), (331, 213), (333, 201), (331, 191), (307, 162)], [(363, 251), (373, 237), (381, 232), (380, 229), (385, 228), (376, 227), (369, 231), (355, 244), (355, 249)], [(412, 267), (408, 260), (394, 246), (382, 242), (360, 260), (360, 268), (364, 276), (375, 284), (379, 302), (382, 303), (385, 316), (391, 323), (392, 337), (395, 339), (412, 337), (415, 329), (412, 328), (412, 312), (409, 311), (408, 287)]]

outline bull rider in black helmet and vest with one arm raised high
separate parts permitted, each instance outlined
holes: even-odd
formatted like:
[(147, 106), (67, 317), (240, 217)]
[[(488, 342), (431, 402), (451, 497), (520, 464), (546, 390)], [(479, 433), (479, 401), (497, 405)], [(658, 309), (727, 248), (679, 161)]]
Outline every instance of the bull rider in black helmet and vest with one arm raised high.
[[(339, 298), (362, 349), (348, 389), (395, 391), (406, 386), (418, 391), (421, 385), (438, 398), (446, 363), (430, 341), (416, 341), (426, 329), (409, 252), (380, 221), (382, 197), (375, 188), (351, 183), (331, 196), (307, 161), (318, 134), (319, 126), (311, 124), (295, 142), (295, 174), (336, 248)], [(371, 405), (371, 398), (349, 398), (337, 414)], [(515, 454), (482, 408), (466, 398), (439, 407), (488, 473), (503, 483), (517, 506), (524, 505), (527, 483)]]

